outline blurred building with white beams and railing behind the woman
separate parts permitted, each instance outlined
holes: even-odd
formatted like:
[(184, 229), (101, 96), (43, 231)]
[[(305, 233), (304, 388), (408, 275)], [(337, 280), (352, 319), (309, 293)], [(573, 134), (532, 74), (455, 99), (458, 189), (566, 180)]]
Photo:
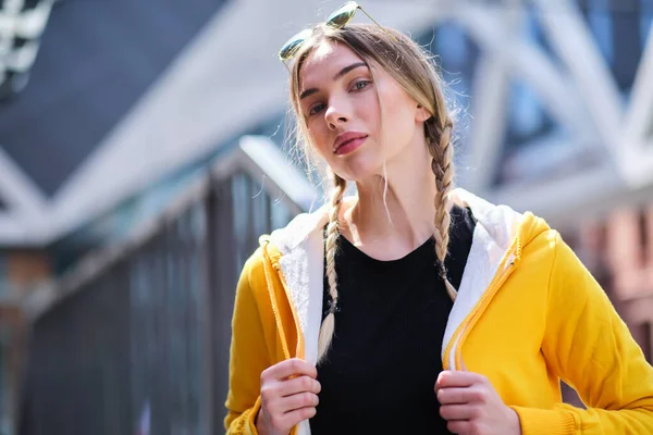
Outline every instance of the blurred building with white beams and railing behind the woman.
[[(221, 432), (237, 270), (320, 200), (276, 50), (340, 3), (0, 0), (0, 431)], [(653, 2), (364, 7), (438, 55), (458, 184), (559, 228), (651, 359)]]

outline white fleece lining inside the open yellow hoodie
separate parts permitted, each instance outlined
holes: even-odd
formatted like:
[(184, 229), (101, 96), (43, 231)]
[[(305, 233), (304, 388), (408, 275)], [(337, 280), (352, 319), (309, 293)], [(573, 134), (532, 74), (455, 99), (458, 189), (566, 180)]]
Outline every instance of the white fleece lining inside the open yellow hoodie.
[[(480, 300), (497, 273), (501, 260), (515, 238), (523, 217), (508, 207), (493, 206), (459, 188), (454, 191), (454, 201), (460, 207), (469, 207), (478, 224), (467, 259), (467, 265), (472, 266), (466, 266), (463, 273), (458, 297), (444, 333), (443, 358), (455, 331)], [(326, 222), (325, 208), (322, 208), (311, 214), (298, 215), (285, 228), (273, 232), (270, 237), (282, 253), (280, 265), (304, 334), (305, 359), (312, 364), (317, 363), (318, 336), (322, 319), (322, 293), (324, 291), (322, 228)], [(455, 369), (458, 339), (451, 350), (451, 369)], [(299, 423), (298, 434), (310, 435), (308, 420)]]

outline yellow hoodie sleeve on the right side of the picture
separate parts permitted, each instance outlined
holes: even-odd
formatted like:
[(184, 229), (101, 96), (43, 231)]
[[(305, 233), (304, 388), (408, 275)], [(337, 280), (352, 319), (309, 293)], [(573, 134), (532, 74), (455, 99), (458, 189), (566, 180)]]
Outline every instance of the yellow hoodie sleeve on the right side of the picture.
[(653, 368), (609, 299), (556, 232), (542, 351), (587, 409), (513, 407), (522, 435), (653, 434)]

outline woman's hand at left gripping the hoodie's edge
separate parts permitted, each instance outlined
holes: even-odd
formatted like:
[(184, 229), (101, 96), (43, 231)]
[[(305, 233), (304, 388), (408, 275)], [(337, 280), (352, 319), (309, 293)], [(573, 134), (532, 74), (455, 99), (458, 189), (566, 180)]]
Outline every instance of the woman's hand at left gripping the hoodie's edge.
[(261, 435), (286, 435), (316, 414), (318, 371), (298, 358), (282, 361), (261, 373), (261, 409), (256, 428)]

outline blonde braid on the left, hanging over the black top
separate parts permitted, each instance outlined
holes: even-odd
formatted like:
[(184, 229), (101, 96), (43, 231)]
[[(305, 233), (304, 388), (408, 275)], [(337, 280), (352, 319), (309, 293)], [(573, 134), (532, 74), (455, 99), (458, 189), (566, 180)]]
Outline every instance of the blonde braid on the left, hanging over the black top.
[(337, 238), (340, 236), (338, 214), (342, 207), (343, 195), (347, 182), (340, 176), (333, 175), (335, 188), (331, 192), (331, 212), (329, 213), (329, 225), (326, 226), (326, 278), (329, 281), (329, 314), (322, 321), (320, 326), (320, 336), (318, 338), (318, 361), (322, 360), (331, 346), (333, 333), (335, 330), (335, 311), (337, 310), (337, 287), (335, 274), (335, 250), (337, 248)]

